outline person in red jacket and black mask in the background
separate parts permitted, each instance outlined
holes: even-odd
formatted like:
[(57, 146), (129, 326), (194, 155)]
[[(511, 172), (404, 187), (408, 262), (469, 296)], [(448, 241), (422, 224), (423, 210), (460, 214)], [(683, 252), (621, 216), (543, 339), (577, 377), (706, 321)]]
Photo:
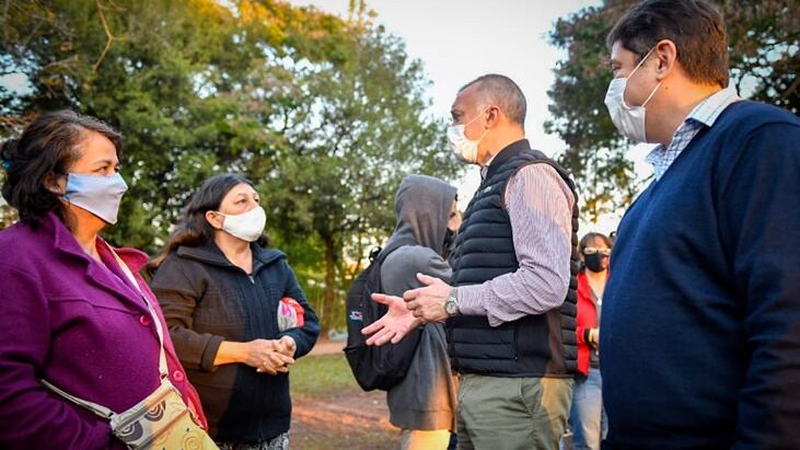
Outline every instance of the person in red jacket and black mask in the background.
[(588, 233), (578, 247), (583, 270), (578, 274), (578, 380), (572, 392), (569, 426), (575, 450), (600, 449), (607, 432), (603, 411), (599, 346), (600, 310), (608, 279), (611, 240), (601, 233)]

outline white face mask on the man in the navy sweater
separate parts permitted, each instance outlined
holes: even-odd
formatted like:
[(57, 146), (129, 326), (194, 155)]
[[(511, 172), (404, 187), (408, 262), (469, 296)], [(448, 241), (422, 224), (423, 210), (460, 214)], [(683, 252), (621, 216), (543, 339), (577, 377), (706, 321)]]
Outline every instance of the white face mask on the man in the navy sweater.
[(605, 106), (608, 108), (611, 114), (611, 120), (614, 123), (616, 128), (623, 136), (636, 142), (647, 142), (647, 127), (645, 122), (645, 105), (656, 95), (661, 82), (656, 85), (656, 89), (650, 92), (645, 103), (641, 106), (628, 106), (625, 104), (625, 88), (628, 84), (630, 77), (636, 73), (641, 65), (650, 57), (651, 48), (647, 55), (641, 58), (641, 61), (636, 66), (633, 72), (627, 78), (615, 78), (611, 80), (608, 84), (608, 91), (605, 93)]

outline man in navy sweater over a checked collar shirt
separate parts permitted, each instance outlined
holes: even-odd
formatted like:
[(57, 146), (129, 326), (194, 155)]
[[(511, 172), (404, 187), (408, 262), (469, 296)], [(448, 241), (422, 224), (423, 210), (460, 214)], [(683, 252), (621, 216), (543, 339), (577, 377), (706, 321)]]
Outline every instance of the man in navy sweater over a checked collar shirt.
[(705, 1), (638, 3), (608, 46), (614, 124), (659, 146), (603, 302), (603, 449), (798, 449), (800, 119), (727, 88)]

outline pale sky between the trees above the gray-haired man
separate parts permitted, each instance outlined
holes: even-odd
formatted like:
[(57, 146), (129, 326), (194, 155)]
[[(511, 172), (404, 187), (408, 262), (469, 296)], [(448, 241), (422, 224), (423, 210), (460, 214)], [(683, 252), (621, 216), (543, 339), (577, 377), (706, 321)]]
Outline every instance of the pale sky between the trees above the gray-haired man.
[[(349, 0), (290, 0), (292, 4), (313, 4), (320, 10), (347, 16)], [(433, 82), (428, 95), (430, 112), (450, 118), (450, 106), (459, 88), (484, 73), (501, 73), (513, 79), (525, 93), (525, 129), (531, 145), (553, 157), (566, 148), (557, 136), (546, 135), (547, 90), (553, 84), (553, 68), (564, 54), (547, 43), (547, 34), (560, 16), (599, 4), (591, 0), (368, 0), (378, 13), (375, 22), (402, 37), (413, 58), (422, 60)], [(611, 74), (610, 74), (611, 77)], [(610, 79), (611, 80), (611, 79)], [(602, 99), (599, 100), (602, 104)], [(631, 151), (637, 173), (647, 176), (644, 163), (649, 147)], [(477, 166), (456, 182), (460, 207), (466, 207), (480, 176)], [(581, 224), (588, 231), (610, 232), (618, 217), (601, 219), (598, 224)]]

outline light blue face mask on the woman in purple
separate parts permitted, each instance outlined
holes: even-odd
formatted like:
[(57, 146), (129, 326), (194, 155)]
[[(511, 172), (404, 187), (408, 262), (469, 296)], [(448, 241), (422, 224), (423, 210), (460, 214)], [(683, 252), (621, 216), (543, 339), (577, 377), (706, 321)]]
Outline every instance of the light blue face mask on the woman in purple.
[(119, 173), (108, 176), (70, 173), (63, 198), (114, 224), (126, 191), (128, 185)]

